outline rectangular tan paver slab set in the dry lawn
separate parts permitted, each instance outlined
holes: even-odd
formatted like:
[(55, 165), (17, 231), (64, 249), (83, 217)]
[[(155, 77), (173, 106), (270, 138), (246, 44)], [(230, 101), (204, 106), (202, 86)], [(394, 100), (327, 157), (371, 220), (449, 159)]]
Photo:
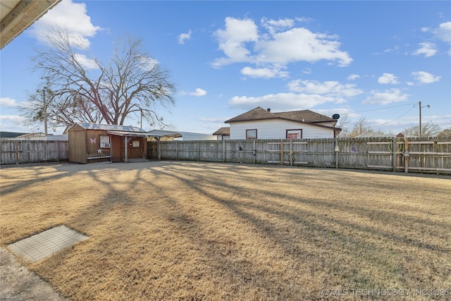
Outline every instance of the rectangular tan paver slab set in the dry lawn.
[(13, 242), (7, 247), (25, 261), (37, 262), (86, 239), (86, 235), (61, 225)]

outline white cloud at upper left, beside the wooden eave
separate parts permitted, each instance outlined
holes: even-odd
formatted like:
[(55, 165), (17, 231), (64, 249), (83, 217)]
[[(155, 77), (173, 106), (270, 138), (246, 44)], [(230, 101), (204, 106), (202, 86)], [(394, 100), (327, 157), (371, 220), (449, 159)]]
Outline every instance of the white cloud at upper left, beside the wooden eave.
[(36, 21), (30, 32), (39, 41), (47, 42), (48, 33), (54, 28), (67, 30), (73, 42), (82, 49), (89, 47), (88, 37), (94, 37), (101, 27), (91, 23), (87, 15), (86, 4), (63, 0)]

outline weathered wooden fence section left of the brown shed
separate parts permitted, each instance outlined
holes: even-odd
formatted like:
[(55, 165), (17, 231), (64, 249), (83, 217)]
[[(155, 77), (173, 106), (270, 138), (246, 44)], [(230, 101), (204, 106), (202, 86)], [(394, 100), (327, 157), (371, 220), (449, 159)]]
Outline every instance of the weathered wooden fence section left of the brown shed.
[(68, 160), (67, 141), (0, 140), (1, 164)]

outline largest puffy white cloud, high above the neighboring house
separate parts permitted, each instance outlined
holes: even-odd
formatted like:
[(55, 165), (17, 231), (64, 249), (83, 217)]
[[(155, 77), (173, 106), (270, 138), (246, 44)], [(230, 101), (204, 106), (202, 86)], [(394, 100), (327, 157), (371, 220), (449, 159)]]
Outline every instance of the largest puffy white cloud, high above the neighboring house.
[[(219, 68), (230, 63), (255, 63), (258, 68), (284, 68), (297, 61), (336, 61), (339, 66), (352, 62), (349, 54), (340, 51), (336, 35), (311, 32), (307, 28), (292, 27), (291, 19), (262, 19), (259, 27), (253, 20), (226, 18), (226, 28), (215, 32), (219, 49), (225, 57), (216, 59), (212, 66)], [(291, 28), (292, 27), (292, 28)], [(290, 29), (288, 29), (290, 28)], [(285, 30), (285, 31), (283, 31)]]

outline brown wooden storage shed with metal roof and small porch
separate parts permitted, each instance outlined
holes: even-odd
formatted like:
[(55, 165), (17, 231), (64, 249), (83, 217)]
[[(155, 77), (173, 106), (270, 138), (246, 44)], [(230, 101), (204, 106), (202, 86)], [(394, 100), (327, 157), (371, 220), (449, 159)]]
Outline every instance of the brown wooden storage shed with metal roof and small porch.
[(70, 162), (87, 164), (147, 159), (149, 134), (135, 126), (74, 123), (67, 133)]

